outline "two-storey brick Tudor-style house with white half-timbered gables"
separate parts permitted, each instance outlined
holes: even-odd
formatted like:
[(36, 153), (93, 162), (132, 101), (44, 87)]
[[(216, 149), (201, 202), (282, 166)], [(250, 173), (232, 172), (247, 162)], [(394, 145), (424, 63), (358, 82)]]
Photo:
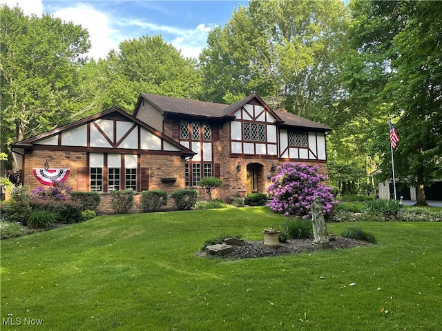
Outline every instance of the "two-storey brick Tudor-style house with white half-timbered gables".
[(30, 188), (66, 180), (74, 190), (101, 193), (99, 211), (108, 212), (112, 190), (200, 189), (200, 179), (213, 176), (223, 181), (213, 197), (230, 202), (242, 192), (266, 192), (285, 162), (318, 165), (326, 174), (330, 130), (273, 111), (257, 94), (225, 105), (142, 93), (133, 115), (112, 108), (19, 141), (12, 152)]

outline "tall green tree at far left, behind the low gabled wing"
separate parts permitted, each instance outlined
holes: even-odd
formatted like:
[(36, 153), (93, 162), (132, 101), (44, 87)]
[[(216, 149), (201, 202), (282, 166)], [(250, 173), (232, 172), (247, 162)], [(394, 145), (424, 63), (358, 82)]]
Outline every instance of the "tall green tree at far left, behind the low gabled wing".
[(48, 14), (27, 17), (17, 7), (0, 8), (0, 31), (3, 150), (11, 141), (67, 123), (86, 60), (81, 54), (90, 42), (81, 26)]

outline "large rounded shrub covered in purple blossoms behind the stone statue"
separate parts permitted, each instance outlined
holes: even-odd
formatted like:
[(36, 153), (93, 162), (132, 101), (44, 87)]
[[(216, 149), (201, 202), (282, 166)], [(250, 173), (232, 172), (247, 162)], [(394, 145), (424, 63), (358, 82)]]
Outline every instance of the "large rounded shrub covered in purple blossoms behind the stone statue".
[(323, 205), (323, 213), (328, 214), (334, 201), (332, 188), (327, 188), (321, 184), (325, 181), (325, 176), (318, 174), (319, 167), (309, 166), (300, 163), (284, 163), (279, 166), (276, 176), (271, 178), (273, 184), (269, 186), (267, 192), (273, 200), (270, 209), (273, 212), (285, 214), (285, 216), (296, 215), (303, 219), (311, 215), (310, 205), (314, 202), (314, 197), (320, 197)]

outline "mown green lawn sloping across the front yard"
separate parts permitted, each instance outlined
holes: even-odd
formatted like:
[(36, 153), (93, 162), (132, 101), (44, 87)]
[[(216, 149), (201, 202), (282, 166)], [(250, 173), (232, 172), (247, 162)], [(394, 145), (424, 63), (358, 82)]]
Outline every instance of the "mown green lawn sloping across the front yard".
[(2, 241), (1, 330), (440, 330), (442, 223), (359, 223), (371, 247), (195, 256), (283, 221), (267, 207), (158, 212)]

